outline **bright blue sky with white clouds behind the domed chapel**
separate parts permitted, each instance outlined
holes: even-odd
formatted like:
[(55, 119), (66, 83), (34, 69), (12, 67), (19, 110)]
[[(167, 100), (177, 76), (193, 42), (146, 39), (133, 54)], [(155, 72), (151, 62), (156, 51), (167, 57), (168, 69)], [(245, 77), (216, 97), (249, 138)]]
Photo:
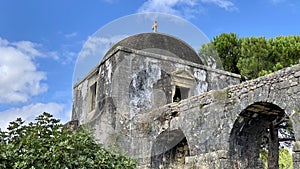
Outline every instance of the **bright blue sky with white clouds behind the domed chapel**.
[(208, 39), (300, 33), (298, 0), (0, 0), (0, 128), (43, 111), (70, 120), (81, 50), (92, 48), (88, 40), (111, 21), (141, 12), (184, 18)]

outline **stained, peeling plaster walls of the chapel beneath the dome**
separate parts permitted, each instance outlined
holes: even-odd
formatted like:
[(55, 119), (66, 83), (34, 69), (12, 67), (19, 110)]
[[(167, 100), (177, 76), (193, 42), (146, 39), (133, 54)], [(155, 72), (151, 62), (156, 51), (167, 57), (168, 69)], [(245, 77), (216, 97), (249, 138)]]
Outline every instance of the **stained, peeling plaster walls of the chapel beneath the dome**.
[[(90, 111), (89, 89), (91, 81), (94, 82), (91, 79), (95, 78), (97, 103)], [(129, 148), (125, 150), (129, 152), (134, 150), (131, 148), (132, 141), (122, 136), (134, 135), (131, 132), (136, 127), (134, 117), (172, 103), (175, 86), (189, 88), (187, 94), (191, 97), (238, 83), (239, 75), (180, 58), (117, 47), (110, 57), (106, 56), (99, 66), (75, 85), (72, 119), (78, 119), (79, 125), (90, 124), (95, 128), (98, 142), (121, 142), (119, 144)], [(149, 147), (152, 146), (150, 143)], [(149, 155), (147, 151), (142, 154)]]

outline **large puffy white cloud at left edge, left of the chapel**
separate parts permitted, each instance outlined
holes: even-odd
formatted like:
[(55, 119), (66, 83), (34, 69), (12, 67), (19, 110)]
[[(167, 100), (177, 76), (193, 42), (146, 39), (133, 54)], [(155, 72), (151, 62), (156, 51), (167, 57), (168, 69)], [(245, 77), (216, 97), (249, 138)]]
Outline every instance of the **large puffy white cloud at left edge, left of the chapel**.
[(0, 38), (0, 104), (26, 102), (47, 91), (46, 73), (34, 63), (36, 57), (44, 56), (37, 44)]

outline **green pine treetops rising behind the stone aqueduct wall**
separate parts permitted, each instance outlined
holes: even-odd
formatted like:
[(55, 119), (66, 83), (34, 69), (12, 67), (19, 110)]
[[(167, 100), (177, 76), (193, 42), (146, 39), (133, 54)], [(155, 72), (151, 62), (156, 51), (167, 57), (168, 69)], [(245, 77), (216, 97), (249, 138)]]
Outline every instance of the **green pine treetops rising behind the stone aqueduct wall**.
[(239, 38), (224, 33), (203, 45), (199, 54), (218, 55), (226, 71), (254, 79), (299, 63), (300, 36)]

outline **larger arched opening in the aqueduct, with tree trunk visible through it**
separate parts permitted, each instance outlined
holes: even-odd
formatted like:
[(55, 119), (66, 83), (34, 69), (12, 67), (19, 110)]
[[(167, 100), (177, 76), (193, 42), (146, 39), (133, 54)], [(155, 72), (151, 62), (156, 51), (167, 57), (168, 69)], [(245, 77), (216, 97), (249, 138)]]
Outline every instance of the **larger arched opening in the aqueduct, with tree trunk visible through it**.
[(240, 113), (230, 133), (232, 165), (235, 169), (278, 169), (279, 149), (290, 148), (294, 140), (283, 109), (271, 103), (254, 103)]

